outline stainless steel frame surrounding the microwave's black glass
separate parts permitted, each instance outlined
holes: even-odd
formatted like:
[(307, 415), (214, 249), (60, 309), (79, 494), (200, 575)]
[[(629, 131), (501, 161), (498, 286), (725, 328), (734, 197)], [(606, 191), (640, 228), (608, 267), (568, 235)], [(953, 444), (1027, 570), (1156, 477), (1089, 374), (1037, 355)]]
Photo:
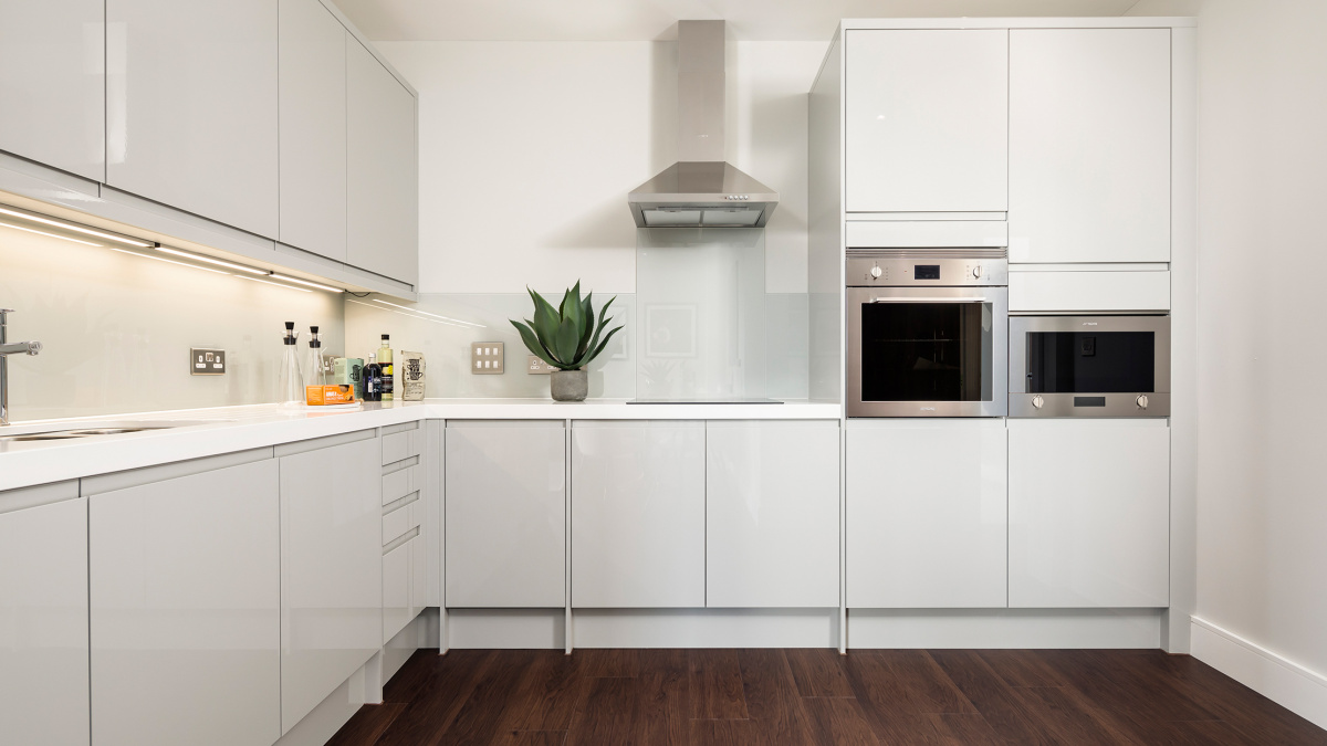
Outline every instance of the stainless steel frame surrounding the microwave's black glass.
[[(1152, 332), (1156, 335), (1154, 392), (1076, 392), (1031, 394), (1027, 392), (1028, 332)], [(1147, 316), (1011, 316), (1009, 320), (1009, 415), (1010, 417), (1169, 417), (1170, 415), (1170, 317)], [(1032, 405), (1042, 397), (1042, 406)], [(1139, 397), (1147, 396), (1147, 408)], [(1075, 406), (1075, 397), (1101, 397), (1105, 406)]]

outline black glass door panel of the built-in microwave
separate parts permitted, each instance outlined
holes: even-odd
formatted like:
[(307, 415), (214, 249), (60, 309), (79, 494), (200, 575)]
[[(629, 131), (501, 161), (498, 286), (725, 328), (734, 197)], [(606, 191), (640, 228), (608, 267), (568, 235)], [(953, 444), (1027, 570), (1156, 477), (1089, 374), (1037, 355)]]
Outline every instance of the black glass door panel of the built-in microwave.
[(1027, 333), (1030, 394), (1154, 390), (1154, 332)]

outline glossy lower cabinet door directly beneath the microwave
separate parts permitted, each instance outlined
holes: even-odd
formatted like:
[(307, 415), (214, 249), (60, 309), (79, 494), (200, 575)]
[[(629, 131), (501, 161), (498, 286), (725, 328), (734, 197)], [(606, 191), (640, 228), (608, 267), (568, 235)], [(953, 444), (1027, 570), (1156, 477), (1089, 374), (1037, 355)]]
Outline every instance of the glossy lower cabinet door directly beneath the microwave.
[(1009, 421), (1009, 605), (1165, 607), (1165, 419)]

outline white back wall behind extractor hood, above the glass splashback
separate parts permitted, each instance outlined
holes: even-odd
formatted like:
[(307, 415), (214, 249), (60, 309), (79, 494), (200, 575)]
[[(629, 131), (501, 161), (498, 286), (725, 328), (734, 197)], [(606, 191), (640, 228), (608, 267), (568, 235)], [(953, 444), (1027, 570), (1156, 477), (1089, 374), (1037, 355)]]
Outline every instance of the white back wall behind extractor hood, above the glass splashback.
[[(770, 292), (805, 292), (807, 92), (827, 42), (735, 42), (729, 161), (779, 191)], [(419, 289), (636, 291), (626, 192), (677, 151), (675, 41), (407, 41), (419, 90)]]

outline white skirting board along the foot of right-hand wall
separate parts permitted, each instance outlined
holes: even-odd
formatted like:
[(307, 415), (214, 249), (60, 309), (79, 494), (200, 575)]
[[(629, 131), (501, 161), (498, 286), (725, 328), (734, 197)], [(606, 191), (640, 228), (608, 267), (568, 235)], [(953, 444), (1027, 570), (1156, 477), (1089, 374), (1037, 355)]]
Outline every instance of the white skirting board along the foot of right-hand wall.
[(1197, 616), (1189, 620), (1193, 657), (1314, 725), (1327, 727), (1327, 676), (1210, 621)]

